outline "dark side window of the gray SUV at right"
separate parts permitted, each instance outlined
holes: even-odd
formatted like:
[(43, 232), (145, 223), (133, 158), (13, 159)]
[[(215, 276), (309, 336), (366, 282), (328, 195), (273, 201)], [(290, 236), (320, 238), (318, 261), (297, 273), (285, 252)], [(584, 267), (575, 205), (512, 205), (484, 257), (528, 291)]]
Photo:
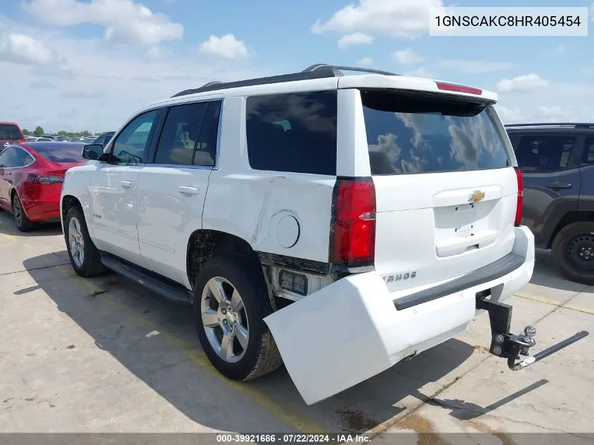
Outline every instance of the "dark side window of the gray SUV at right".
[(557, 172), (569, 167), (575, 136), (524, 135), (515, 150), (523, 172)]

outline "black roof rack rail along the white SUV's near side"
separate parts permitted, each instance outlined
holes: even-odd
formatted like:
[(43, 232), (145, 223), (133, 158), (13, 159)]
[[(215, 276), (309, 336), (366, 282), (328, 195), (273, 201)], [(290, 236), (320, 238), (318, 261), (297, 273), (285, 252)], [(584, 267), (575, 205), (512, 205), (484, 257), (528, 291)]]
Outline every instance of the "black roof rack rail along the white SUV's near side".
[(301, 72), (293, 72), (290, 74), (285, 75), (277, 75), (277, 76), (269, 76), (269, 77), (258, 77), (257, 79), (247, 79), (247, 80), (239, 80), (236, 82), (208, 82), (200, 86), (199, 88), (194, 89), (186, 89), (183, 91), (179, 91), (172, 96), (179, 97), (179, 96), (187, 96), (188, 94), (195, 94), (195, 93), (203, 93), (205, 91), (215, 91), (220, 89), (229, 89), (229, 88), (238, 88), (240, 86), (254, 86), (254, 85), (266, 85), (266, 84), (276, 84), (280, 82), (295, 82), (297, 80), (310, 80), (310, 79), (324, 79), (328, 77), (338, 77), (342, 76), (342, 72), (344, 71), (359, 71), (359, 72), (369, 72), (373, 74), (381, 74), (381, 75), (389, 75), (389, 76), (397, 76), (393, 72), (387, 71), (380, 71), (380, 70), (372, 70), (368, 68), (359, 68), (359, 67), (343, 67), (343, 66), (333, 66), (327, 65), (325, 63), (318, 63), (316, 65), (311, 65), (306, 67), (305, 70)]

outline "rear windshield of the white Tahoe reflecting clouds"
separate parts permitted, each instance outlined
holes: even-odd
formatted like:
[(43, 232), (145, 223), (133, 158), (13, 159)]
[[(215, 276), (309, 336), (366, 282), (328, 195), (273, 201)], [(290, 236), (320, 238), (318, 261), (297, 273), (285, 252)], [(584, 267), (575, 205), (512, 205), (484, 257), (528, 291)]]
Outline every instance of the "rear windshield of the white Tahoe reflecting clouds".
[(508, 152), (484, 103), (361, 91), (371, 174), (498, 169)]

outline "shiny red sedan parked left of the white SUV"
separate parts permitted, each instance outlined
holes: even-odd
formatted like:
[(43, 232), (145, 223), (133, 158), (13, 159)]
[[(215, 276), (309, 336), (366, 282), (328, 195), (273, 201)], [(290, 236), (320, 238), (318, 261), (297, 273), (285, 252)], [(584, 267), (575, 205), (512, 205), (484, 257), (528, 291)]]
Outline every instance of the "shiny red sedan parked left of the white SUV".
[(13, 143), (0, 153), (0, 208), (15, 217), (20, 231), (60, 221), (64, 174), (82, 165), (83, 143)]

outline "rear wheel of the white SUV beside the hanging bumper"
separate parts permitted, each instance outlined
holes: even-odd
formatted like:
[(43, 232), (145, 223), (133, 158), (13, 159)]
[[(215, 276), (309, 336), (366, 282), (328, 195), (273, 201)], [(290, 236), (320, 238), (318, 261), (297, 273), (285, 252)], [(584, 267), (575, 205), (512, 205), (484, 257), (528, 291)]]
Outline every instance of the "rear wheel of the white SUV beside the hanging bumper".
[(196, 333), (209, 361), (232, 380), (252, 380), (282, 365), (264, 318), (272, 313), (259, 263), (245, 254), (214, 257), (194, 286)]

